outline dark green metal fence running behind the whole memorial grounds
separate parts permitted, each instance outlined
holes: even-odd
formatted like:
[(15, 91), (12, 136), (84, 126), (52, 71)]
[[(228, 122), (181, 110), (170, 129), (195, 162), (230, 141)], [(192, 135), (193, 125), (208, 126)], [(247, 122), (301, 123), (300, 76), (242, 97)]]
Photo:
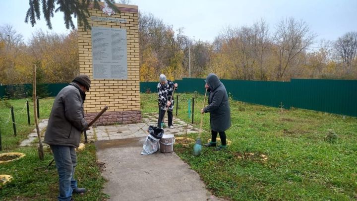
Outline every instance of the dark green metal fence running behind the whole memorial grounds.
[[(292, 79), (284, 81), (221, 80), (234, 100), (272, 107), (302, 108), (357, 117), (357, 80)], [(176, 80), (178, 92), (204, 94), (204, 79)], [(157, 91), (157, 82), (140, 82), (140, 92)], [(48, 84), (49, 96), (56, 96), (66, 83)], [(0, 98), (5, 86), (0, 86)], [(28, 86), (26, 86), (28, 87)]]

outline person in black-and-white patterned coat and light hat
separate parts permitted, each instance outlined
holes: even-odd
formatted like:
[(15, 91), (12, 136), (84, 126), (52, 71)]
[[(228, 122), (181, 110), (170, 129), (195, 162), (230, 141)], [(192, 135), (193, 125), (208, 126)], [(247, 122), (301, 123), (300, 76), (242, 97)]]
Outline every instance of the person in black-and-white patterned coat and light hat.
[(159, 114), (159, 118), (158, 118), (158, 127), (161, 128), (161, 122), (163, 122), (165, 112), (167, 111), (168, 121), (169, 121), (168, 126), (170, 129), (174, 129), (174, 125), (173, 125), (174, 97), (172, 97), (171, 99), (171, 96), (173, 95), (174, 90), (178, 88), (178, 84), (174, 83), (171, 80), (166, 79), (166, 76), (164, 74), (161, 74), (159, 79), (160, 82), (157, 85), (157, 91), (159, 95), (159, 107), (160, 107), (161, 114)]

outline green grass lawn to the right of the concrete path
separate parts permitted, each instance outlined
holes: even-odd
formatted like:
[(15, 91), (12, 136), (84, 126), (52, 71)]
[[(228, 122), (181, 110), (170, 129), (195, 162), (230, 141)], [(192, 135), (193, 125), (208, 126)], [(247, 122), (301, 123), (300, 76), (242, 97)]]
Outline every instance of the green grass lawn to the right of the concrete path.
[[(141, 95), (143, 112), (157, 111), (156, 96)], [(192, 96), (198, 126), (202, 95), (179, 94), (178, 117), (191, 121), (187, 102)], [(203, 148), (195, 157), (193, 144), (175, 145), (214, 195), (228, 200), (357, 200), (357, 118), (230, 103), (232, 127), (226, 133), (232, 144), (227, 151)], [(203, 129), (210, 131), (207, 113)], [(329, 129), (338, 135), (334, 142), (324, 140)], [(209, 138), (210, 133), (202, 134), (203, 142)]]

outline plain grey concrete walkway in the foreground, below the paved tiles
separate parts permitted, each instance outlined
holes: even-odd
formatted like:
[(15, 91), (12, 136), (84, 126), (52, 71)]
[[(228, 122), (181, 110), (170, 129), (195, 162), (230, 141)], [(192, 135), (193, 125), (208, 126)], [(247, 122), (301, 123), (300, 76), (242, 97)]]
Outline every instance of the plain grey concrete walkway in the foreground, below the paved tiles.
[(199, 175), (176, 153), (140, 155), (145, 137), (96, 141), (113, 201), (214, 201)]

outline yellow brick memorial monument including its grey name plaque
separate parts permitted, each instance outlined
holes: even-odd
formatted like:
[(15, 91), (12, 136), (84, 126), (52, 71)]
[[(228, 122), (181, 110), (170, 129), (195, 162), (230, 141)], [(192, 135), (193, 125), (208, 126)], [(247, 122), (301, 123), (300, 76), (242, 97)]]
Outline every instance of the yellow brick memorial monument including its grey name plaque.
[(79, 72), (88, 75), (91, 88), (84, 104), (87, 121), (104, 106), (109, 109), (98, 125), (141, 121), (139, 85), (138, 6), (106, 3), (89, 7), (91, 30), (78, 23)]

